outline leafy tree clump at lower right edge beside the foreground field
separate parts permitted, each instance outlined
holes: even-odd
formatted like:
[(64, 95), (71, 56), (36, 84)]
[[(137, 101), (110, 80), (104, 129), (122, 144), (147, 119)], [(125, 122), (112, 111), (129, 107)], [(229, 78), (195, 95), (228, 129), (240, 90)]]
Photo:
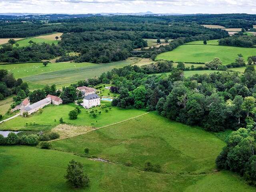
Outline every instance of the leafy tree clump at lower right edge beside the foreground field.
[(246, 128), (232, 132), (227, 146), (216, 159), (219, 170), (231, 170), (256, 186), (256, 131), (255, 123), (248, 121)]

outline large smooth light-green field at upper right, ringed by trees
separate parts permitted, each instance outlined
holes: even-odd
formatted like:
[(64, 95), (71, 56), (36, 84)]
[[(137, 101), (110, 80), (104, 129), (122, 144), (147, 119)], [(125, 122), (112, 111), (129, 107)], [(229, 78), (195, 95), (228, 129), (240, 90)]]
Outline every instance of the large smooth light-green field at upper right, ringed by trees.
[(256, 48), (241, 48), (231, 46), (214, 45), (182, 45), (173, 51), (165, 52), (157, 56), (157, 60), (173, 60), (175, 62), (208, 62), (215, 57), (220, 58), (223, 64), (234, 62), (238, 54), (245, 59), (256, 54)]

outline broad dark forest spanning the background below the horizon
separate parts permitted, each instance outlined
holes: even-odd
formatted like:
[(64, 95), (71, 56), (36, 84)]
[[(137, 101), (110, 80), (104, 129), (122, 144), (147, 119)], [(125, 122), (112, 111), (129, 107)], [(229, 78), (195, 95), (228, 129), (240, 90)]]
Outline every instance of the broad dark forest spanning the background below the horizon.
[[(147, 46), (145, 38), (175, 39), (169, 46), (161, 46), (157, 53), (170, 51), (194, 40), (210, 40), (228, 37), (221, 29), (204, 28), (196, 23), (163, 22), (159, 17), (113, 16), (74, 18), (59, 24), (1, 23), (0, 38), (21, 38), (50, 32), (63, 32), (58, 45), (32, 44), (26, 48), (3, 46), (0, 62), (28, 62), (62, 56), (58, 62), (107, 63), (125, 60), (135, 48)], [(143, 57), (149, 57), (154, 50)], [(80, 52), (76, 57), (67, 52)], [(138, 55), (138, 54), (135, 54)]]

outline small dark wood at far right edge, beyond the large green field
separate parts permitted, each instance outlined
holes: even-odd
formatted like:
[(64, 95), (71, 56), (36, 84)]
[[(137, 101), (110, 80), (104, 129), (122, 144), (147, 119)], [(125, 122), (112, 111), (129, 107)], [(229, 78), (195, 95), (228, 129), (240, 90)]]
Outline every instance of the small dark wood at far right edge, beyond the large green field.
[(233, 35), (219, 40), (219, 45), (236, 46), (236, 47), (253, 47), (256, 45), (256, 36), (237, 36)]

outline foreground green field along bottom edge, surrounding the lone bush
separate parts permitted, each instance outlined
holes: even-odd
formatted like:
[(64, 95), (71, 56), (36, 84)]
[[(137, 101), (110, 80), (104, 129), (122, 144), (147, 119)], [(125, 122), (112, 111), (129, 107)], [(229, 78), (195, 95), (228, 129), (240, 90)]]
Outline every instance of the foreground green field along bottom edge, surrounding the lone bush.
[[(67, 152), (28, 146), (0, 147), (0, 192), (254, 192), (230, 172), (178, 175), (142, 172), (120, 164), (82, 158)], [(74, 189), (64, 179), (70, 160), (84, 165), (90, 186)], [(6, 179), (12, 178), (12, 179)], [(216, 182), (216, 180), (218, 182)]]

